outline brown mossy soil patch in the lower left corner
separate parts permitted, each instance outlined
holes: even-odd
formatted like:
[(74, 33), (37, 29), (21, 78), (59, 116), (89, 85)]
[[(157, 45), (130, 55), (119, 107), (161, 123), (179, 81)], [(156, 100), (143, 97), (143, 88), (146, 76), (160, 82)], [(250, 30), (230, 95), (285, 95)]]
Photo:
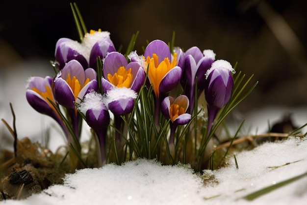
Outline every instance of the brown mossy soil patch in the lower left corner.
[(28, 138), (17, 140), (16, 147), (16, 153), (3, 150), (0, 155), (0, 201), (22, 199), (63, 182), (62, 178), (68, 173), (63, 156), (51, 153)]

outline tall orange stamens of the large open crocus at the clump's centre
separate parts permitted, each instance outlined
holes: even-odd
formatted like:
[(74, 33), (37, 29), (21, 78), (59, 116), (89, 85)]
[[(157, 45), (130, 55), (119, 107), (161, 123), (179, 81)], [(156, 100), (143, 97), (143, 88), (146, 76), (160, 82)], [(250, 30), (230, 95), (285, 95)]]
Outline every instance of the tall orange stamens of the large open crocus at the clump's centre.
[[(147, 57), (146, 64), (149, 63), (149, 71), (148, 71), (148, 77), (153, 85), (153, 91), (156, 97), (159, 97), (159, 86), (166, 75), (167, 72), (169, 72), (172, 68), (174, 68), (177, 64), (177, 54), (174, 53), (174, 59), (172, 62), (168, 58), (164, 58), (163, 61), (160, 62), (158, 60), (158, 56), (156, 54), (153, 54), (152, 58)], [(147, 68), (145, 68), (145, 71), (147, 72)]]

